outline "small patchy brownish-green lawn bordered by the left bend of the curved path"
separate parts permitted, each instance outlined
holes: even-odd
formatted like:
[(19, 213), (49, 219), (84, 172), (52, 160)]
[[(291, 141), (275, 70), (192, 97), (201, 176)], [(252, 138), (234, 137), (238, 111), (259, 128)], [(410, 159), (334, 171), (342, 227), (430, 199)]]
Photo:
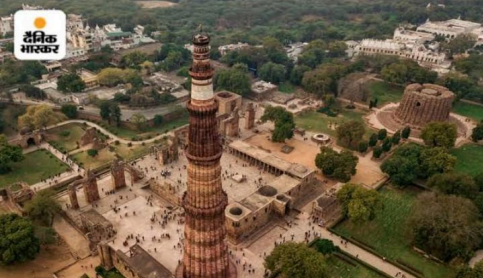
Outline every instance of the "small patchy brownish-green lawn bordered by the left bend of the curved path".
[(85, 127), (81, 124), (67, 124), (49, 130), (49, 143), (60, 151), (78, 149), (77, 142), (85, 134)]

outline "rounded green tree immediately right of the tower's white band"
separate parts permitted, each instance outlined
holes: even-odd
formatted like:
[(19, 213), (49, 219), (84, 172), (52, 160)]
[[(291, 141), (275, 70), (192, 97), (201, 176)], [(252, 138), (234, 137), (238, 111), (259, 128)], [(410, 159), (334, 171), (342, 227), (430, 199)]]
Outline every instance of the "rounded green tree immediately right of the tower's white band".
[(248, 95), (251, 91), (250, 77), (237, 69), (217, 71), (214, 84), (217, 91), (228, 90), (242, 96)]

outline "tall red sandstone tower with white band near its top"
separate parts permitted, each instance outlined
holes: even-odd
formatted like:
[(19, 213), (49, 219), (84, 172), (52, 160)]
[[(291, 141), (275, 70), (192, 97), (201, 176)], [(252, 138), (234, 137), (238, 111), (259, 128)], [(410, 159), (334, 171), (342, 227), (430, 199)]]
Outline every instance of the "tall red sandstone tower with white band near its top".
[(236, 268), (229, 260), (226, 244), (228, 197), (221, 185), (223, 149), (216, 120), (218, 103), (213, 94), (209, 36), (195, 35), (193, 46), (191, 99), (186, 105), (188, 188), (181, 199), (186, 215), (184, 257), (176, 277), (232, 278), (236, 277)]

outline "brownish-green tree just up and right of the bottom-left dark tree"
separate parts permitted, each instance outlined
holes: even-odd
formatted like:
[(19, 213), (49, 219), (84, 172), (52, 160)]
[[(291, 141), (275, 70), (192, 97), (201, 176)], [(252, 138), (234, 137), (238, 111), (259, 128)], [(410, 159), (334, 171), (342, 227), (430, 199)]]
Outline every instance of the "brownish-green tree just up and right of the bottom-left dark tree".
[(53, 196), (53, 191), (42, 190), (25, 204), (25, 212), (34, 223), (52, 226), (55, 214), (61, 211), (59, 203)]

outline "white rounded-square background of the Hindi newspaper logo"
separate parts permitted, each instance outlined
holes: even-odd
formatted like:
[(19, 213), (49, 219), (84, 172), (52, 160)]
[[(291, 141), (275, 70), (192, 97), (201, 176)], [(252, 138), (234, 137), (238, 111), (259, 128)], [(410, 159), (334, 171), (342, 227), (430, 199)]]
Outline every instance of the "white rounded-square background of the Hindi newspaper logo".
[[(42, 17), (46, 25), (42, 29), (35, 27), (35, 19)], [(58, 10), (17, 11), (14, 16), (14, 46), (15, 57), (19, 60), (61, 60), (66, 55), (66, 16)], [(22, 53), (25, 32), (43, 31), (46, 35), (56, 35), (59, 45), (58, 53)]]

